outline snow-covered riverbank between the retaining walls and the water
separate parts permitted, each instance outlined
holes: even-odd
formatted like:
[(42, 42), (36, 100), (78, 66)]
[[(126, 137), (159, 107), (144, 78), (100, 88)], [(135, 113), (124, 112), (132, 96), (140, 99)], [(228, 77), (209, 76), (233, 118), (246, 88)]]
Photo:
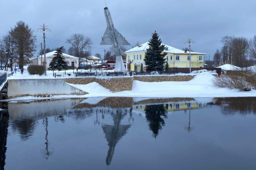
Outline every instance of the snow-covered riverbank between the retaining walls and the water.
[[(73, 85), (80, 90), (88, 92), (86, 95), (56, 95), (46, 98), (33, 96), (14, 98), (11, 100), (36, 100), (59, 98), (89, 98), (89, 97), (145, 97), (145, 98), (172, 98), (172, 97), (255, 97), (256, 90), (239, 92), (228, 88), (214, 87), (211, 83), (211, 73), (197, 74), (195, 78), (187, 82), (141, 82), (134, 81), (132, 91), (110, 92), (96, 82), (87, 85)], [(9, 100), (10, 101), (10, 100)]]

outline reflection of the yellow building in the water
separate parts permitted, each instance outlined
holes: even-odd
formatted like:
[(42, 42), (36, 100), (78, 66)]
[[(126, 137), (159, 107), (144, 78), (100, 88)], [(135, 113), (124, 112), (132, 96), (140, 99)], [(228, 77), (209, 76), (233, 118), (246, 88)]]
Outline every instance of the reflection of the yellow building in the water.
[[(178, 111), (178, 110), (188, 110), (189, 108), (190, 109), (204, 108), (204, 104), (197, 103), (197, 102), (170, 102), (170, 103), (156, 103), (156, 104), (163, 104), (167, 112)], [(145, 104), (133, 105), (132, 109), (144, 111), (146, 106), (147, 105)]]

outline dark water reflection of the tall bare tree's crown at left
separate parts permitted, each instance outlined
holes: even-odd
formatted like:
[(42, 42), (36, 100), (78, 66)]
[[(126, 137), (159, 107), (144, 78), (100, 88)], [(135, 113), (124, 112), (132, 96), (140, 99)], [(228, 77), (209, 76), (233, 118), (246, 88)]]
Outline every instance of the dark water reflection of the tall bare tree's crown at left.
[(12, 122), (12, 129), (18, 130), (21, 140), (27, 140), (35, 131), (36, 121), (34, 119), (21, 119)]

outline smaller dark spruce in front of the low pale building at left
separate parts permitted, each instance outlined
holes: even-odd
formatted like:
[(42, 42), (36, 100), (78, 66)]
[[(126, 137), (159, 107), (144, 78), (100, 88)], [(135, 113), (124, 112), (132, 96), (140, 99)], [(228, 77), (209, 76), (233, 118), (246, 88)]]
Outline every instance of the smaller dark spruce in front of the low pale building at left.
[(67, 69), (68, 64), (65, 62), (65, 59), (62, 57), (63, 46), (58, 48), (52, 58), (51, 63), (49, 64), (48, 70), (62, 70)]

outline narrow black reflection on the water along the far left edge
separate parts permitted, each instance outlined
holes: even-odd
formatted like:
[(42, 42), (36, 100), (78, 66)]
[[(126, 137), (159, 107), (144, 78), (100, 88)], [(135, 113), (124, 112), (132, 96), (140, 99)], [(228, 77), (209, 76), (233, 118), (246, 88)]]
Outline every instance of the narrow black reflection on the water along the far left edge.
[[(1, 115), (2, 114), (2, 115)], [(6, 148), (6, 139), (8, 134), (8, 114), (0, 113), (0, 169), (4, 169), (5, 165), (5, 152)]]

